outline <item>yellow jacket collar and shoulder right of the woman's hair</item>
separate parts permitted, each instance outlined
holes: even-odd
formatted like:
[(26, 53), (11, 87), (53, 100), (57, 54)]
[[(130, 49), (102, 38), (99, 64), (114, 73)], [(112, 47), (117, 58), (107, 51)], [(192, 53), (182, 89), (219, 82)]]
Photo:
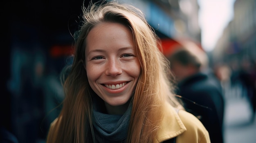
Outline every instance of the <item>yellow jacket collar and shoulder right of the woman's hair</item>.
[(211, 143), (208, 131), (193, 114), (184, 110), (177, 113), (171, 105), (167, 105), (154, 143), (162, 143), (175, 136), (175, 143)]

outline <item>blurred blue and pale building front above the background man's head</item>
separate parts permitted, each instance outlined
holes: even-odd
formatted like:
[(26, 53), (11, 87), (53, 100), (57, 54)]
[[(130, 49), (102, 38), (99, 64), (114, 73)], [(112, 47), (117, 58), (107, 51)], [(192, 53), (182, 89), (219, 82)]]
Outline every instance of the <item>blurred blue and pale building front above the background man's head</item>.
[(189, 38), (200, 42), (197, 0), (121, 0), (142, 12), (160, 38)]

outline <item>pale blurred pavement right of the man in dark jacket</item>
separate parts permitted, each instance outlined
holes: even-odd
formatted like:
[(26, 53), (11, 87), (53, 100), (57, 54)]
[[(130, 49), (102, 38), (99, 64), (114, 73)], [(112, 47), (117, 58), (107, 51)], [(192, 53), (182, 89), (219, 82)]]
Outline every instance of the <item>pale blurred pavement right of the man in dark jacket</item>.
[(256, 121), (250, 122), (252, 112), (247, 99), (230, 99), (226, 104), (225, 143), (254, 143)]

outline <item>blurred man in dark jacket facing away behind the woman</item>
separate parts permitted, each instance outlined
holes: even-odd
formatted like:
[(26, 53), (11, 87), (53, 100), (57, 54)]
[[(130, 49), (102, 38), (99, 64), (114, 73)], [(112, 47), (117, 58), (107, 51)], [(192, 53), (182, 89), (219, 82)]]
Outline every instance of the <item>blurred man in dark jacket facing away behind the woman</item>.
[(223, 143), (222, 88), (213, 74), (202, 72), (205, 65), (199, 56), (200, 53), (179, 48), (167, 57), (177, 81), (176, 94), (180, 95), (186, 110), (198, 117), (209, 131), (211, 143)]

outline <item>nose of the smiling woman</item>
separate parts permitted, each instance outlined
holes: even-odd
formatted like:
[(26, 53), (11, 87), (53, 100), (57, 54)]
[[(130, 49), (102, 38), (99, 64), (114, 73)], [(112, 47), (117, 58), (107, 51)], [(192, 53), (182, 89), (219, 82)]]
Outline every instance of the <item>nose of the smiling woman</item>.
[(110, 75), (112, 77), (116, 77), (117, 75), (120, 75), (123, 73), (123, 70), (121, 68), (121, 63), (118, 60), (109, 60), (106, 70), (106, 75)]

